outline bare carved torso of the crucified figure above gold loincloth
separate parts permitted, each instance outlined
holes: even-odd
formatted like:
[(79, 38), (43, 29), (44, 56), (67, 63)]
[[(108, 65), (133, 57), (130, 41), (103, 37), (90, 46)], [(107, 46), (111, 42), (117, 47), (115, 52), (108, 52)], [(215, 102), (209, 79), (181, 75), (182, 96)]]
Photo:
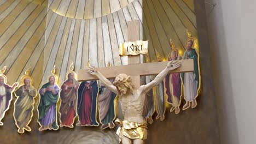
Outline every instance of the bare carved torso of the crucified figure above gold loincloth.
[(121, 108), (124, 120), (129, 122), (145, 123), (146, 119), (142, 116), (144, 99), (146, 93), (142, 91), (142, 87), (135, 92), (120, 95)]

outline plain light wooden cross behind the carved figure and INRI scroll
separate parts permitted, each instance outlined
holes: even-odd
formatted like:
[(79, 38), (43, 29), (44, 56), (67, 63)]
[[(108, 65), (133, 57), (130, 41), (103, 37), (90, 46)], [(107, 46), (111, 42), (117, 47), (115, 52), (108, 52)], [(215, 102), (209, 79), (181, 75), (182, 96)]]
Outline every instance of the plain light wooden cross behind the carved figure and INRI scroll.
[[(129, 21), (128, 40), (136, 41), (139, 39), (139, 21)], [(139, 55), (128, 56), (128, 65), (114, 67), (97, 68), (107, 79), (114, 78), (119, 74), (131, 76), (135, 89), (140, 86), (140, 76), (156, 75), (166, 68), (168, 62), (140, 63)], [(181, 67), (171, 71), (171, 73), (185, 73), (194, 71), (193, 59), (181, 60)], [(78, 70), (78, 81), (98, 80), (96, 76), (89, 74), (85, 69)]]

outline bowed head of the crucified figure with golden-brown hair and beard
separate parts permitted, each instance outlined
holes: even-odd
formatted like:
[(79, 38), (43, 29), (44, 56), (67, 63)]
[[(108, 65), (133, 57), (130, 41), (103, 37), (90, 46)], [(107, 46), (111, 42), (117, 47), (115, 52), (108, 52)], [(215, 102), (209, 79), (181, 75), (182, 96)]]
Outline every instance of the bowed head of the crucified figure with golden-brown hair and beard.
[(127, 76), (126, 74), (119, 74), (117, 77), (115, 77), (113, 85), (117, 87), (120, 95), (125, 95), (127, 92), (132, 93), (134, 88), (131, 83), (131, 76)]

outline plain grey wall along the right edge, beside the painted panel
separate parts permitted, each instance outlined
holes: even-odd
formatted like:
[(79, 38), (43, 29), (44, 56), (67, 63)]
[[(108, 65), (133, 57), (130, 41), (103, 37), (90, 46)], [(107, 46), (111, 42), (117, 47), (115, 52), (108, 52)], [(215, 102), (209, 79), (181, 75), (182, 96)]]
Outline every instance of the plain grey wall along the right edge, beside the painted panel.
[(255, 143), (256, 2), (207, 2), (221, 141)]

